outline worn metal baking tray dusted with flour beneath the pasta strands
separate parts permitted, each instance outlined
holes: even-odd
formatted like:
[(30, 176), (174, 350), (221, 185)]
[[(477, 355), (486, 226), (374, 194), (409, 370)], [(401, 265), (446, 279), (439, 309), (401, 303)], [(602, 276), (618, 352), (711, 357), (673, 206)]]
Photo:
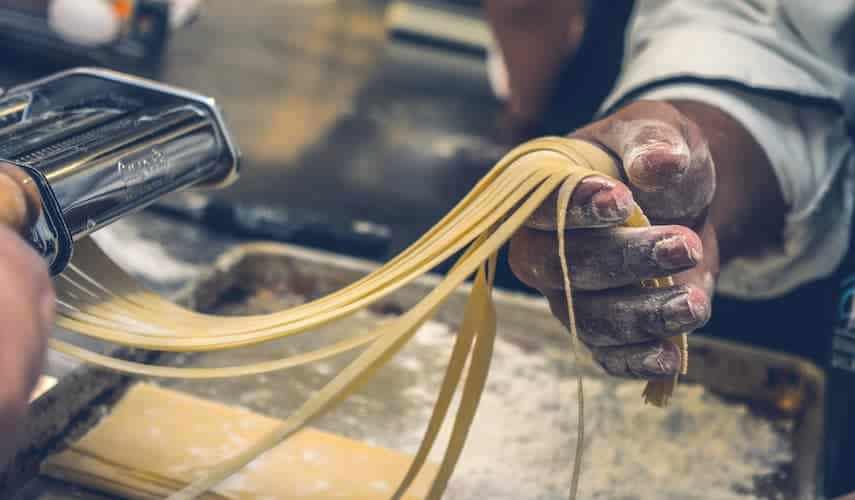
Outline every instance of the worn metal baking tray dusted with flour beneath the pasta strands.
[[(184, 273), (191, 278), (200, 268), (182, 255), (186, 259), (208, 241), (206, 253), (193, 257), (199, 263), (228, 245), (190, 227), (151, 218), (146, 222), (124, 223), (102, 238), (115, 252), (127, 248), (122, 242), (128, 238), (170, 237), (174, 249), (140, 244), (135, 255), (119, 255), (122, 262), (136, 260), (134, 268), (144, 274), (160, 272), (163, 278), (169, 270), (173, 276)], [(152, 271), (158, 267), (160, 271)], [(267, 312), (327, 293), (369, 269), (352, 259), (293, 247), (238, 249), (196, 284), (191, 302), (202, 310), (229, 314)], [(320, 335), (329, 339), (364, 329), (382, 315), (413, 304), (434, 282), (421, 280), (390, 296), (371, 314)], [(569, 341), (542, 301), (506, 293), (498, 293), (497, 300), (500, 341), (495, 364), (448, 498), (485, 498), (485, 492), (487, 498), (499, 500), (563, 498), (576, 427)], [(436, 321), (374, 382), (317, 425), (412, 452), (429, 415), (463, 301), (462, 293), (449, 300)], [(233, 364), (237, 359), (290, 354), (317, 341), (305, 336), (261, 349), (184, 357), (183, 362)], [(764, 351), (699, 336), (692, 346), (691, 378), (698, 383), (682, 385), (665, 412), (642, 405), (642, 384), (604, 377), (588, 364), (580, 367), (586, 376), (590, 439), (583, 497), (810, 498), (795, 492), (809, 492), (813, 484), (821, 376), (811, 365)], [(282, 417), (346, 360), (267, 376), (168, 385)], [(67, 498), (56, 495), (67, 492), (68, 485), (40, 480), (31, 488), (24, 498)]]

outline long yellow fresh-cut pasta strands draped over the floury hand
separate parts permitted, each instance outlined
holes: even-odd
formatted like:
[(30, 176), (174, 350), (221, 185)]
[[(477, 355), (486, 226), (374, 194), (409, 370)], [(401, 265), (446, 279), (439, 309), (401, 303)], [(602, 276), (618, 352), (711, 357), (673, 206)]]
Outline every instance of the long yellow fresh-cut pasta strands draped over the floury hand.
[[(278, 428), (235, 457), (206, 471), (169, 500), (190, 500), (239, 471), (305, 425), (347, 398), (388, 362), (415, 335), (443, 302), (466, 279), (474, 277), (466, 310), (422, 443), (410, 469), (392, 498), (400, 498), (412, 484), (448, 418), (454, 394), (461, 404), (454, 416), (446, 453), (428, 498), (441, 498), (462, 453), (489, 373), (496, 335), (496, 313), (491, 292), (496, 254), (556, 189), (557, 234), (569, 330), (578, 361), (578, 339), (572, 304), (572, 283), (565, 257), (565, 226), (570, 198), (584, 178), (605, 174), (620, 178), (611, 157), (580, 140), (544, 138), (508, 153), (433, 228), (398, 256), (371, 274), (325, 297), (285, 311), (251, 316), (212, 316), (173, 304), (139, 285), (113, 263), (94, 242), (79, 243), (69, 269), (56, 280), (58, 324), (68, 330), (118, 345), (156, 351), (204, 352), (238, 348), (291, 335), (343, 320), (429, 272), (463, 251), (439, 284), (410, 310), (380, 324), (368, 334), (353, 337), (288, 358), (223, 368), (193, 368), (134, 363), (52, 340), (51, 346), (87, 363), (111, 370), (156, 377), (218, 378), (264, 373), (300, 366), (361, 349), (359, 354)], [(640, 210), (626, 222), (645, 226)], [(670, 278), (644, 286), (672, 286)], [(670, 339), (680, 348), (682, 370), (687, 367), (685, 335)], [(467, 367), (468, 361), (468, 367)], [(578, 363), (577, 363), (578, 365)], [(464, 379), (464, 370), (466, 376)], [(462, 388), (461, 380), (463, 380)], [(646, 402), (664, 406), (677, 377), (652, 381), (644, 390)], [(575, 499), (581, 476), (584, 441), (584, 383), (578, 376), (578, 435), (569, 497)]]

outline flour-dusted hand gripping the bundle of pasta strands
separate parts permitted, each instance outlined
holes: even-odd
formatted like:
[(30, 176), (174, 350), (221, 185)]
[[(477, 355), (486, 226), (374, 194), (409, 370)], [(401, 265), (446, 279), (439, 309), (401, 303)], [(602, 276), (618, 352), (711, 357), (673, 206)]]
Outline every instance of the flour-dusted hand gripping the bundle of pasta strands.
[[(638, 102), (572, 135), (619, 160), (625, 183), (604, 176), (580, 183), (567, 214), (567, 259), (579, 337), (613, 375), (671, 376), (680, 354), (663, 339), (702, 326), (719, 256), (706, 214), (716, 172), (701, 129), (674, 106)], [(511, 240), (510, 263), (567, 321), (555, 197)], [(621, 228), (634, 203), (654, 226)], [(641, 288), (647, 278), (673, 275), (675, 286)]]

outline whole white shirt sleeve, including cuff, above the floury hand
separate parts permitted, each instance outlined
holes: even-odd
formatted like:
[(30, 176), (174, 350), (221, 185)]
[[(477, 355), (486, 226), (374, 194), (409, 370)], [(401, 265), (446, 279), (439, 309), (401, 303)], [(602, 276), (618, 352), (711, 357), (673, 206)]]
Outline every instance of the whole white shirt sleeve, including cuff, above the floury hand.
[(832, 273), (850, 241), (855, 151), (844, 110), (852, 109), (853, 79), (833, 64), (838, 54), (824, 59), (792, 36), (786, 3), (639, 0), (624, 71), (606, 103), (705, 102), (763, 147), (789, 212), (780, 248), (722, 269), (719, 292), (742, 298), (777, 296)]

